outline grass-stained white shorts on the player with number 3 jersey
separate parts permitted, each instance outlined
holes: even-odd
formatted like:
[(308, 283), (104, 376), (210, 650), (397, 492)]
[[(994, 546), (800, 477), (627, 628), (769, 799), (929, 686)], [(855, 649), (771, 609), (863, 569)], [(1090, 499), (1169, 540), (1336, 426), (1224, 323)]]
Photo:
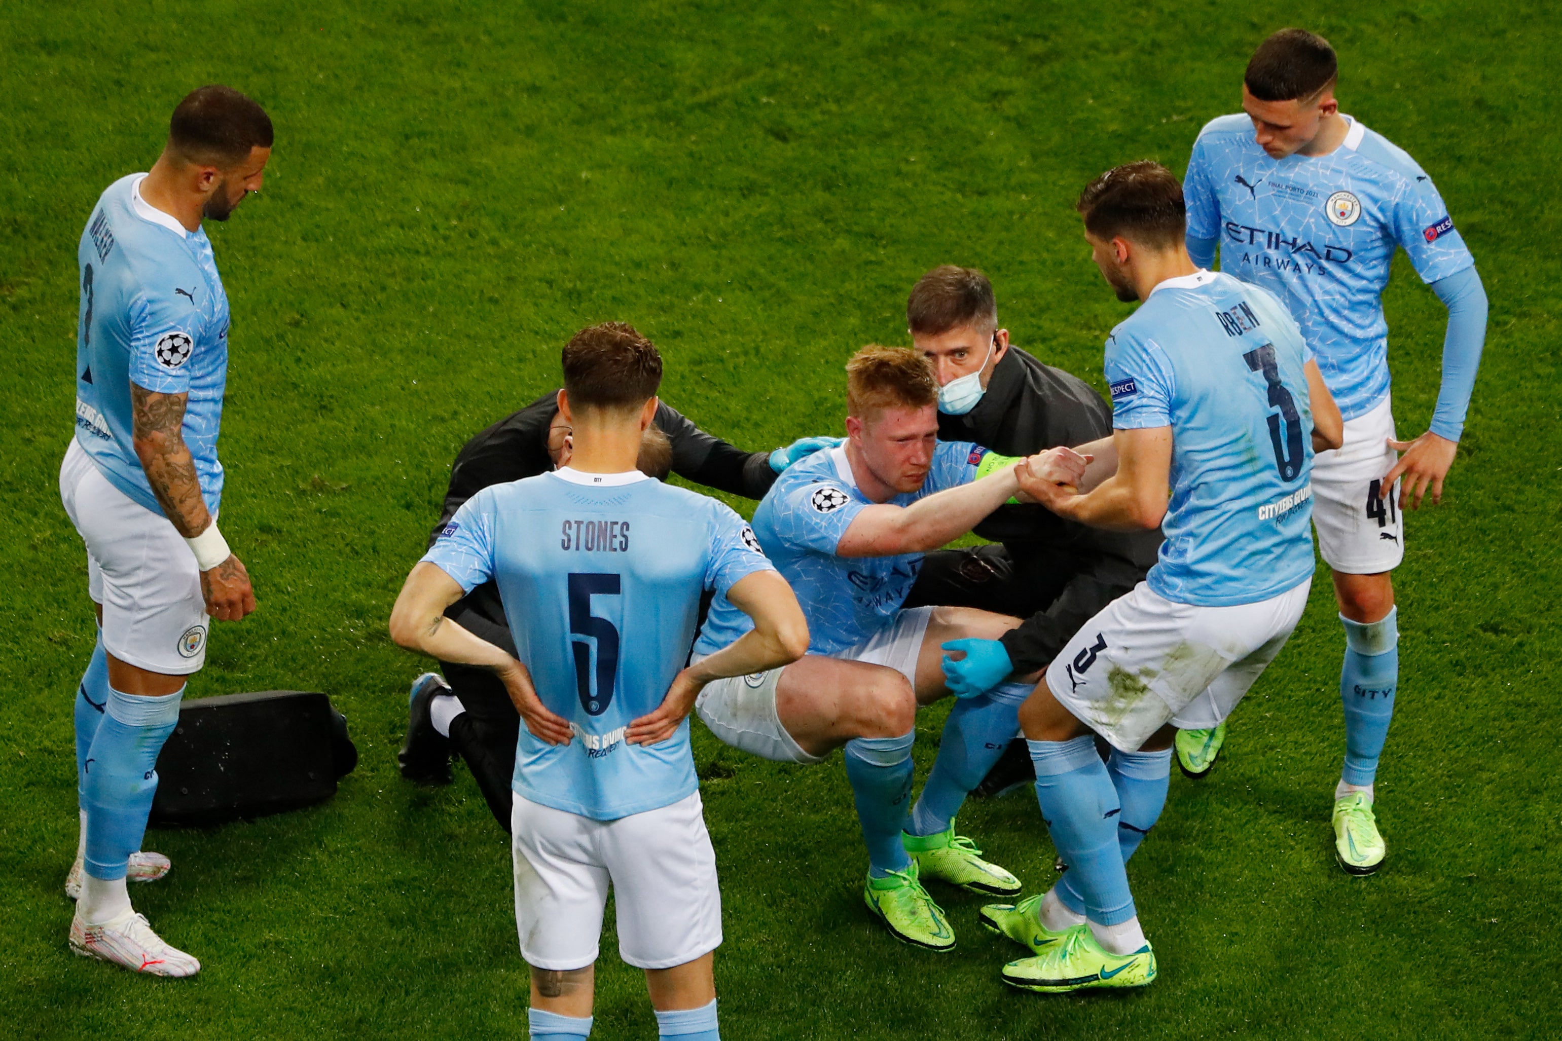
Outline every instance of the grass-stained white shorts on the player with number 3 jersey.
[(1047, 668), (1053, 696), (1125, 752), (1167, 723), (1218, 726), (1307, 606), (1312, 579), (1257, 604), (1178, 604), (1140, 582), (1075, 634)]

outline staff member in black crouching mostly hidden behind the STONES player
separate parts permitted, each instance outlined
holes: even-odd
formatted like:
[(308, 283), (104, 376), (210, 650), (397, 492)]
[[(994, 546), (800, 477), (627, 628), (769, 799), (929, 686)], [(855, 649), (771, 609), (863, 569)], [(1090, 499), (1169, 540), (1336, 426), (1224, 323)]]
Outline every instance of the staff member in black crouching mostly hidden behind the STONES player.
[[(817, 439), (804, 439), (773, 453), (747, 453), (706, 434), (667, 403), (645, 431), (639, 467), (665, 478), (681, 478), (729, 495), (764, 498), (793, 457), (808, 454)], [(433, 546), (456, 510), (473, 495), (495, 484), (534, 478), (569, 465), (570, 421), (559, 410), (559, 392), (550, 390), (525, 409), (473, 435), (450, 468), (450, 490), (439, 523), (430, 534)], [(484, 582), (450, 606), (448, 618), (494, 646), (514, 652), (498, 587)], [(492, 673), (456, 662), (440, 662), (439, 673), (423, 673), (412, 682), (406, 743), (398, 762), (401, 776), (419, 783), (448, 783), (455, 751), (472, 769), (483, 798), (500, 827), (509, 830), (509, 776), (515, 759), (520, 718), (505, 685)]]

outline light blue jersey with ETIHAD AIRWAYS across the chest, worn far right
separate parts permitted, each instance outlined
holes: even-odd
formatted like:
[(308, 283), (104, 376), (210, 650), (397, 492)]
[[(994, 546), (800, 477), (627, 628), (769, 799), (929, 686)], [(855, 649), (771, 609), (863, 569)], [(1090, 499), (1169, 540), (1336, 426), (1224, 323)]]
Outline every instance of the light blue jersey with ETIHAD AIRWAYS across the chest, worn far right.
[(1211, 120), (1182, 194), (1189, 236), (1218, 237), (1220, 270), (1287, 306), (1346, 420), (1389, 396), (1395, 247), (1428, 282), (1475, 265), (1426, 172), (1354, 119), (1329, 155), (1284, 159), (1268, 158), (1246, 115)]

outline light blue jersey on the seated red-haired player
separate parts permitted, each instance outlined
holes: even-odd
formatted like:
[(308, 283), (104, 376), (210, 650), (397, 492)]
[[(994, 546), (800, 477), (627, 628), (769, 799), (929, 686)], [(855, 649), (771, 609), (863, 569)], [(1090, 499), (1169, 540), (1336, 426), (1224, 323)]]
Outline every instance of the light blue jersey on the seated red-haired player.
[[(986, 454), (986, 448), (968, 442), (939, 442), (922, 489), (897, 495), (890, 504), (911, 506), (934, 492), (975, 481)], [(872, 504), (851, 476), (842, 445), (787, 467), (754, 510), (759, 545), (792, 584), (808, 616), (809, 654), (839, 654), (895, 621), (922, 570), (920, 552), (836, 556), (847, 528)], [(715, 654), (750, 629), (748, 616), (717, 596), (695, 652)]]

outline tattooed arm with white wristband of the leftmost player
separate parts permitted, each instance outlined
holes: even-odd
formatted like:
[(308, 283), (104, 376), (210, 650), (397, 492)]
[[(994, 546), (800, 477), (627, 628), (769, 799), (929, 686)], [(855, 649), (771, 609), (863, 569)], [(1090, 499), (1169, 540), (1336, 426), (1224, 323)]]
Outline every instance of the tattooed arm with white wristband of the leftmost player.
[(228, 551), (228, 543), (212, 528), (201, 498), (195, 460), (184, 443), (187, 403), (187, 393), (158, 393), (131, 382), (131, 442), (158, 506), (175, 531), (192, 543), (206, 613), (239, 621), (255, 610), (255, 590), (244, 562)]

